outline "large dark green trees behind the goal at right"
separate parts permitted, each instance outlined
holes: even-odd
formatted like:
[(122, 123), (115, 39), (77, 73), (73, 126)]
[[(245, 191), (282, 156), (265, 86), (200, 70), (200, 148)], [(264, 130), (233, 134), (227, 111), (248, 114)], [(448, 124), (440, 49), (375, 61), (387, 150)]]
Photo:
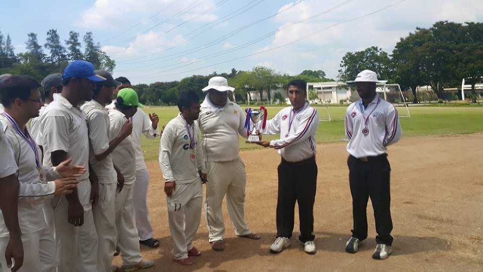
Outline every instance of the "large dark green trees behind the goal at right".
[(430, 28), (417, 28), (401, 38), (392, 54), (377, 46), (348, 52), (339, 70), (342, 80), (353, 80), (359, 71), (370, 69), (380, 79), (411, 89), (418, 103), (416, 88), (431, 86), (444, 99), (443, 88), (471, 85), (468, 97), (476, 102), (474, 85), (483, 77), (483, 23), (441, 21)]

